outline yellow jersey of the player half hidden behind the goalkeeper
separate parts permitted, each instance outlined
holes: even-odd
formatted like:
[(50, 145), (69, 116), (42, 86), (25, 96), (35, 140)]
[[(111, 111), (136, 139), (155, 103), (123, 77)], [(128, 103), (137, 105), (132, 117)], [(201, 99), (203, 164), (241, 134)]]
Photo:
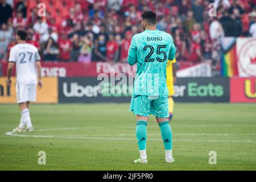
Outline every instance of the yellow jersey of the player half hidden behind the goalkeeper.
[(172, 64), (176, 63), (176, 58), (172, 61), (167, 61), (167, 68), (166, 68), (166, 84), (169, 91), (169, 96), (173, 96), (175, 93), (174, 90), (174, 73), (172, 71)]

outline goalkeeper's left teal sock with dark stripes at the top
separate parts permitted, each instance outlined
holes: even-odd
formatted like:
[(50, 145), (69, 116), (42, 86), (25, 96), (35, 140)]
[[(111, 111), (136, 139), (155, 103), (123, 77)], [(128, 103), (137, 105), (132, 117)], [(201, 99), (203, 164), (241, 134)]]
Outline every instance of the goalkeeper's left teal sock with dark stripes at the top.
[(136, 136), (138, 140), (139, 150), (146, 150), (147, 143), (147, 122), (137, 121)]

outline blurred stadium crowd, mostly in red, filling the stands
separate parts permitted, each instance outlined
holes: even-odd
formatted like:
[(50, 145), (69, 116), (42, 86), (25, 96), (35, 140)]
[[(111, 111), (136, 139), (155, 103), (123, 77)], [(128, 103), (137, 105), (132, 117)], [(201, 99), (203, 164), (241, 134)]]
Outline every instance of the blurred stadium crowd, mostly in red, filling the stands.
[[(46, 16), (38, 16), (46, 5)], [(216, 16), (209, 16), (214, 3)], [(153, 10), (158, 29), (170, 33), (177, 61), (217, 65), (220, 38), (256, 38), (256, 0), (0, 0), (0, 60), (24, 28), (44, 61), (126, 62), (131, 38), (143, 31), (141, 14)], [(214, 13), (214, 11), (213, 11)]]

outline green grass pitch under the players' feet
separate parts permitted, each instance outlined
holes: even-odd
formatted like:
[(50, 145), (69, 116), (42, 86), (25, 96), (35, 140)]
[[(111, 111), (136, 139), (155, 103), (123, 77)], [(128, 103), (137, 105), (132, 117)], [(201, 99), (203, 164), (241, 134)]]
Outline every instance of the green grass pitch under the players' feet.
[[(0, 170), (256, 170), (255, 104), (175, 104), (173, 164), (160, 129), (148, 123), (148, 164), (138, 158), (136, 117), (128, 104), (32, 105), (34, 133), (18, 126), (17, 105), (0, 105)], [(46, 165), (38, 152), (46, 152)], [(210, 165), (209, 151), (217, 164)]]

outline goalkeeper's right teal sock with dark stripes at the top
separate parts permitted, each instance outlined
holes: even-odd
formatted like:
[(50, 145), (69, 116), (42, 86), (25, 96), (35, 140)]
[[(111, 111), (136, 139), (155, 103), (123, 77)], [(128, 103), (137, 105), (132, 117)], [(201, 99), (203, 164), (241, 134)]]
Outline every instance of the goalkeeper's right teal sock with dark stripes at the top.
[(172, 129), (168, 121), (160, 122), (159, 124), (161, 135), (166, 150), (172, 149)]

